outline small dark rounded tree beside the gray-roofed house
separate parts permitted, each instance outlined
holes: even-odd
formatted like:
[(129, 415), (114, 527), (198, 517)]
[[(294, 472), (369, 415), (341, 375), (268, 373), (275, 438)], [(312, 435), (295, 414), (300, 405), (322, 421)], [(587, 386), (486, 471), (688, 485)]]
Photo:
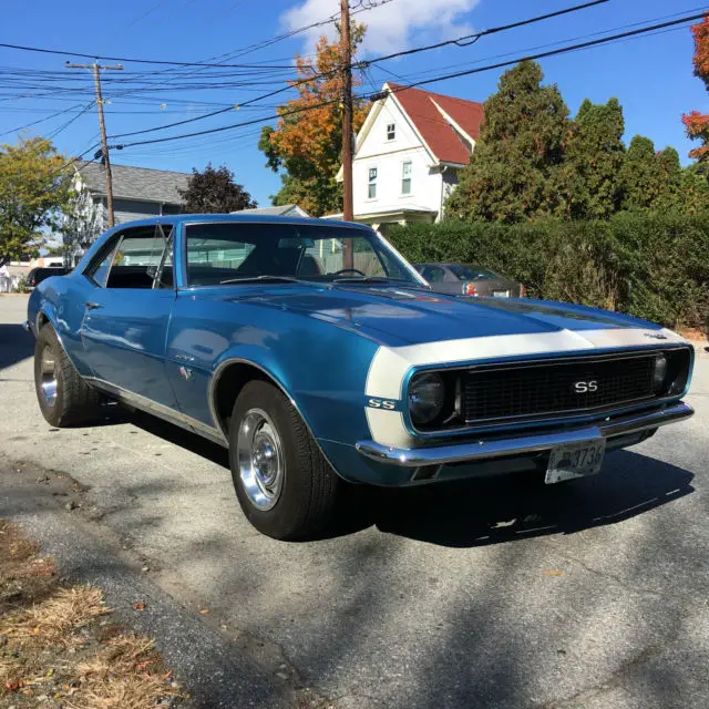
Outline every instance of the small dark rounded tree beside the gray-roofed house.
[(209, 164), (204, 172), (193, 167), (187, 188), (178, 192), (183, 212), (187, 214), (229, 213), (257, 206), (256, 201), (235, 182), (234, 173), (225, 165), (215, 169)]

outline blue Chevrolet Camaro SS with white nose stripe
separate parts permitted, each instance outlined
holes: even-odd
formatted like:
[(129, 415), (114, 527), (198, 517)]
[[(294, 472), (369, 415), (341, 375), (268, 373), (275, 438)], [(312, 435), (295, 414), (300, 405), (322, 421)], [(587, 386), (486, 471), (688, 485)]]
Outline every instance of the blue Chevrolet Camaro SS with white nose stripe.
[(691, 415), (693, 351), (582, 306), (433, 294), (371, 228), (186, 215), (106, 233), (32, 294), (44, 418), (105, 400), (228, 448), (242, 507), (318, 533), (348, 483), (547, 483)]

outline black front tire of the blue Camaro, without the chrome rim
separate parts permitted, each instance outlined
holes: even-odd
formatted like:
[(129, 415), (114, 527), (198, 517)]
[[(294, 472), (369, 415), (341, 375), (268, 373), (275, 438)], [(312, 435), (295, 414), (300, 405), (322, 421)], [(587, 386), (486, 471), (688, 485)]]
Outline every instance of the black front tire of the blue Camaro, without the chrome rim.
[[(280, 439), (282, 483), (269, 510), (259, 508), (253, 502), (239, 467), (239, 429), (253, 410), (268, 415)], [(305, 541), (321, 536), (347, 485), (326, 461), (296, 408), (280, 389), (266, 381), (248, 382), (234, 404), (229, 464), (236, 495), (247, 520), (276, 540)]]

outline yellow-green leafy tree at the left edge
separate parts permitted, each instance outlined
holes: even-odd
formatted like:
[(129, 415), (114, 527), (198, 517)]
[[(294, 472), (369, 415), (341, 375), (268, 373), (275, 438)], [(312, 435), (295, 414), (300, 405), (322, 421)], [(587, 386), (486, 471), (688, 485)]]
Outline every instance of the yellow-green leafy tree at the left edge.
[(72, 194), (65, 163), (42, 137), (0, 146), (0, 266), (37, 255), (47, 232), (59, 228)]

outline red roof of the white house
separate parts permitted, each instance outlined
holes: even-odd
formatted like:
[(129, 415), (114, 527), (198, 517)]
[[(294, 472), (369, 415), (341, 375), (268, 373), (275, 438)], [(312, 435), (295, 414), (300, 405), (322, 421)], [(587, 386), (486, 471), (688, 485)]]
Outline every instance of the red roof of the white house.
[[(446, 117), (444, 111), (474, 141), (480, 135), (483, 122), (483, 104), (464, 99), (444, 96), (421, 89), (405, 89), (399, 84), (386, 84), (401, 104), (411, 122), (415, 125), (425, 144), (436, 160), (443, 163), (465, 165), (470, 152), (459, 137), (459, 133)], [(439, 107), (436, 107), (436, 105)]]

